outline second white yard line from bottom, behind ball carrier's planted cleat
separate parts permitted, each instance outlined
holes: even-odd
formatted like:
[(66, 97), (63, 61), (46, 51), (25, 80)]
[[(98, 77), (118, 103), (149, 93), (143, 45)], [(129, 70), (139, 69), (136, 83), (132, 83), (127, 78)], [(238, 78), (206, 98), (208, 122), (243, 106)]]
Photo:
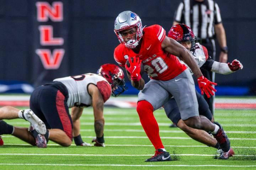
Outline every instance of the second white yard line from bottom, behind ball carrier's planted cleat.
[[(0, 153), (0, 155), (38, 155), (38, 156), (110, 156), (110, 157), (119, 157), (119, 156), (128, 156), (128, 157), (141, 157), (141, 156), (152, 156), (152, 154), (138, 154), (138, 155), (128, 155), (128, 154), (41, 154), (41, 153)], [(207, 154), (170, 154), (172, 156), (202, 156), (202, 157), (212, 157), (215, 155)], [(234, 155), (235, 157), (255, 157), (256, 155)]]

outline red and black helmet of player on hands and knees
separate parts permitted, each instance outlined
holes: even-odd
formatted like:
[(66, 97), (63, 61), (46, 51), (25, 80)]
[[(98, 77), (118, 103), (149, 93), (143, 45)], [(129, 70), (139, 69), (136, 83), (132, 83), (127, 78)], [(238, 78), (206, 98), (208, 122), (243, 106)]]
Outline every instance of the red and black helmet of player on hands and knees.
[(123, 70), (115, 64), (103, 64), (97, 71), (112, 87), (112, 96), (117, 97), (126, 91)]

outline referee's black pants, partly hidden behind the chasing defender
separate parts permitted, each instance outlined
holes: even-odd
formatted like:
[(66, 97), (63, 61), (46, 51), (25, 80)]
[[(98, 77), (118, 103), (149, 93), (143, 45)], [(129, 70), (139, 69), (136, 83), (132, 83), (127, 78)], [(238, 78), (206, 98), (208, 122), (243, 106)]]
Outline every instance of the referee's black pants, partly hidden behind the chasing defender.
[[(204, 40), (202, 42), (198, 41), (201, 45), (205, 46), (207, 51), (208, 51), (208, 56), (212, 57), (213, 60), (215, 60), (215, 52), (216, 52), (216, 48), (215, 48), (215, 42), (214, 40)], [(201, 72), (203, 74), (204, 77), (206, 77), (208, 80), (210, 81), (215, 81), (215, 73), (205, 70), (205, 69), (201, 69)], [(206, 96), (206, 94), (204, 94), (204, 99), (206, 100), (206, 102), (209, 105), (210, 111), (212, 114), (214, 114), (214, 98), (215, 96), (210, 96), (210, 98), (208, 98)]]

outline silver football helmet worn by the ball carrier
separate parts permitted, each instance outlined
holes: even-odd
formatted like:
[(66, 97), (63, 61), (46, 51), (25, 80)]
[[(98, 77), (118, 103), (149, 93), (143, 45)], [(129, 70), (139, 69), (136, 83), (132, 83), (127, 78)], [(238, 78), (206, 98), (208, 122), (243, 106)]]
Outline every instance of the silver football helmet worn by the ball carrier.
[[(129, 41), (125, 42), (123, 38), (126, 38), (126, 37), (123, 37), (121, 35), (121, 31), (130, 29), (132, 27), (136, 27), (137, 29), (137, 32), (134, 33), (136, 34), (135, 36), (136, 38), (135, 40), (130, 39)], [(117, 16), (114, 22), (114, 32), (116, 33), (118, 40), (123, 45), (125, 45), (130, 49), (134, 49), (139, 44), (139, 41), (143, 35), (143, 27), (142, 27), (142, 22), (140, 17), (132, 11), (123, 11), (119, 13), (119, 15)], [(128, 36), (132, 36), (132, 35), (128, 35)]]

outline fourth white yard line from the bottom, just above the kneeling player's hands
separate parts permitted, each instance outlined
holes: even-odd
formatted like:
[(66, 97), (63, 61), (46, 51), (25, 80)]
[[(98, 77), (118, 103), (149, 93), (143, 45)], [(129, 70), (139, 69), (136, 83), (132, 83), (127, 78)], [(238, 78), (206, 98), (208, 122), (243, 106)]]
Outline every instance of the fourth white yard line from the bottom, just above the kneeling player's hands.
[[(2, 136), (2, 138), (5, 137), (15, 137), (15, 136)], [(82, 138), (95, 138), (95, 136), (82, 136)], [(112, 138), (112, 139), (123, 139), (123, 138), (132, 138), (132, 139), (147, 139), (147, 136), (104, 136), (104, 138)], [(161, 137), (161, 139), (188, 139), (193, 140), (190, 137)], [(251, 140), (255, 141), (256, 138), (229, 138), (229, 140)]]

